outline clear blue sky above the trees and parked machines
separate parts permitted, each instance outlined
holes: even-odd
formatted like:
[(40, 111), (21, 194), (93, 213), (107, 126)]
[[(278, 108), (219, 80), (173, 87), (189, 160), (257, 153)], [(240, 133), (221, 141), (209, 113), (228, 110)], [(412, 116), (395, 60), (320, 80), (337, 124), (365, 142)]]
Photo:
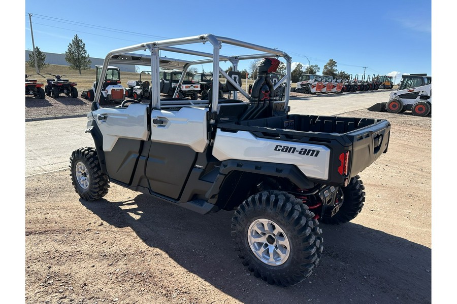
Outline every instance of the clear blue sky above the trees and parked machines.
[[(55, 5), (55, 1), (26, 0), (25, 49), (32, 49), (31, 13), (35, 46), (50, 53), (65, 52), (75, 34), (91, 57), (104, 58), (120, 47), (213, 33), (281, 49), (293, 62), (317, 64), (320, 71), (334, 59), (339, 71), (353, 75), (362, 75), (363, 67), (366, 75), (432, 73), (430, 0), (349, 5), (331, 0), (320, 2), (319, 10), (303, 0), (107, 3), (81, 0)], [(238, 54), (230, 47), (221, 53)], [(240, 63), (239, 68), (248, 65)]]

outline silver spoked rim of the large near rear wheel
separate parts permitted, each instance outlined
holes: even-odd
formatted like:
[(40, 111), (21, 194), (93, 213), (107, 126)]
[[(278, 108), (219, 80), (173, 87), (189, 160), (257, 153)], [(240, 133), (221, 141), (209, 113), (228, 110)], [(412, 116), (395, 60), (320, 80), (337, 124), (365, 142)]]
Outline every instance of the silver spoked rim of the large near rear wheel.
[(248, 229), (248, 242), (254, 255), (262, 262), (278, 266), (290, 253), (289, 240), (282, 228), (272, 220), (259, 218)]

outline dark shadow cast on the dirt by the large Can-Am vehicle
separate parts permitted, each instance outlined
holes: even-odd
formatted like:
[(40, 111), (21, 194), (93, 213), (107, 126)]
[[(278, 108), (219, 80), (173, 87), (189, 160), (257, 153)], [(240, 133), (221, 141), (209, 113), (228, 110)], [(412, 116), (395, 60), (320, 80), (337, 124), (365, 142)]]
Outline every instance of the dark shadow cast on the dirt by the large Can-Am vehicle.
[(321, 224), (324, 252), (318, 267), (284, 288), (255, 278), (242, 265), (230, 234), (232, 211), (200, 215), (144, 194), (128, 202), (80, 201), (242, 302), (431, 303), (431, 249), (359, 224)]

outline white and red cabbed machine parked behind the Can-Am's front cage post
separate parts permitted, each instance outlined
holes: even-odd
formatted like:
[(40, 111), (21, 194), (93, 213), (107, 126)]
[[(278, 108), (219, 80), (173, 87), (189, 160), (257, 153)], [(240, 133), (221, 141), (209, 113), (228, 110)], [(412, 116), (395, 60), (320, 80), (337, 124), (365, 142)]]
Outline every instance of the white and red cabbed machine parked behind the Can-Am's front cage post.
[(105, 67), (106, 70), (104, 72), (103, 82), (99, 87), (103, 66), (96, 65), (96, 72), (95, 72), (95, 82), (87, 91), (83, 91), (81, 93), (81, 97), (89, 99), (93, 101), (95, 98), (95, 93), (100, 91), (99, 94), (101, 104), (113, 104), (113, 103), (121, 103), (125, 100), (125, 92), (124, 88), (120, 85), (120, 69), (116, 66), (108, 66)]

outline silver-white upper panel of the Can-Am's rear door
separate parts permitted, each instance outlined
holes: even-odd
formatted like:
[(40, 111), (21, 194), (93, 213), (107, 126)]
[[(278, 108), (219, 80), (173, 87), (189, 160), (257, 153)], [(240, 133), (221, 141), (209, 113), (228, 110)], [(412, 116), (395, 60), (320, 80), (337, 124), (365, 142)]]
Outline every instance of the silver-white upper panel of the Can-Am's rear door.
[(188, 146), (194, 151), (203, 152), (208, 145), (206, 113), (208, 108), (183, 107), (179, 111), (154, 109), (153, 120), (163, 124), (152, 123), (151, 140)]

